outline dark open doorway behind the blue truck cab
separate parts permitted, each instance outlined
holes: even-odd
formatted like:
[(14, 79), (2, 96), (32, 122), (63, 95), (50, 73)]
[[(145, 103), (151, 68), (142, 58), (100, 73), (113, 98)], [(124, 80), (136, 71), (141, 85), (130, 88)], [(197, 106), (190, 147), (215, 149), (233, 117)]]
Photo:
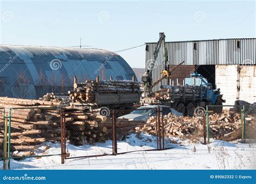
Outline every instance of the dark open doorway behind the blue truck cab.
[(203, 75), (208, 82), (212, 84), (212, 88), (216, 89), (215, 86), (215, 65), (196, 65), (195, 69), (198, 74)]

